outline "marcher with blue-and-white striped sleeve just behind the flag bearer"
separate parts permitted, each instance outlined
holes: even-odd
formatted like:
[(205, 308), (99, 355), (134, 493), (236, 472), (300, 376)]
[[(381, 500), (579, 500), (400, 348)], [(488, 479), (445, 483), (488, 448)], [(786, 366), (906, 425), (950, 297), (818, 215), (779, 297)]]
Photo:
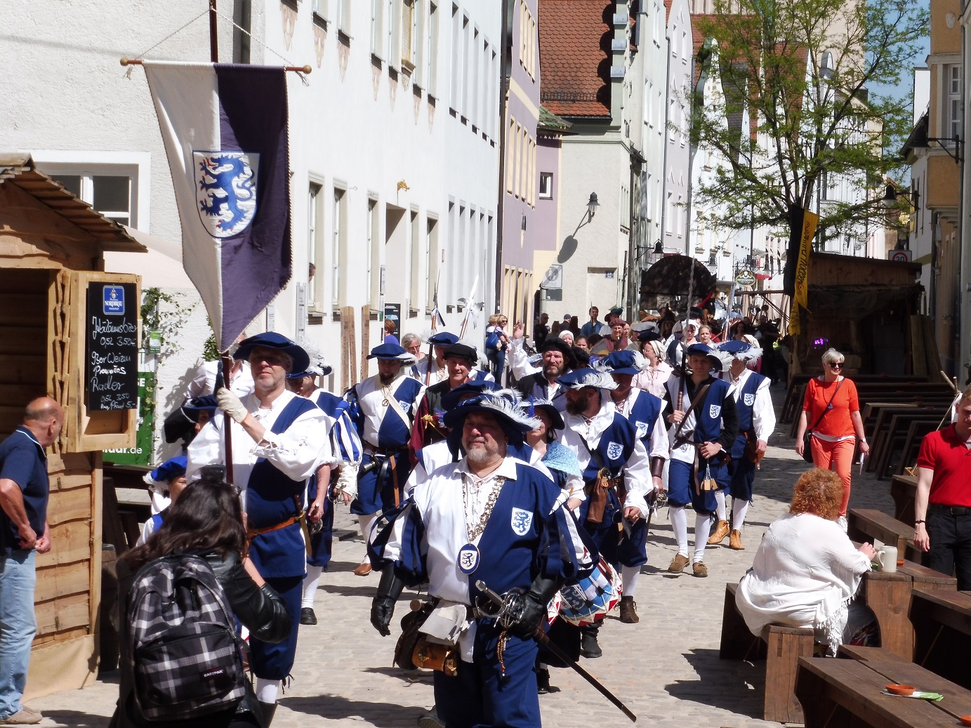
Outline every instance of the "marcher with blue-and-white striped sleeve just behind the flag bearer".
[(351, 503), (357, 492), (357, 469), (361, 460), (361, 443), (357, 437), (348, 403), (335, 394), (318, 388), (318, 377), (326, 377), (332, 368), (322, 354), (310, 344), (303, 344), (311, 357), (306, 372), (296, 372), (286, 376), (290, 391), (316, 402), (327, 415), (330, 430), (330, 447), (338, 459), (338, 465), (330, 469), (329, 479), (318, 487), (318, 476), (314, 475), (307, 484), (307, 522), (310, 535), (310, 554), (307, 556), (307, 576), (303, 583), (303, 600), (300, 605), (300, 623), (317, 624), (314, 612), (314, 598), (320, 575), (330, 563), (334, 533), (334, 505), (342, 499), (345, 505)]

